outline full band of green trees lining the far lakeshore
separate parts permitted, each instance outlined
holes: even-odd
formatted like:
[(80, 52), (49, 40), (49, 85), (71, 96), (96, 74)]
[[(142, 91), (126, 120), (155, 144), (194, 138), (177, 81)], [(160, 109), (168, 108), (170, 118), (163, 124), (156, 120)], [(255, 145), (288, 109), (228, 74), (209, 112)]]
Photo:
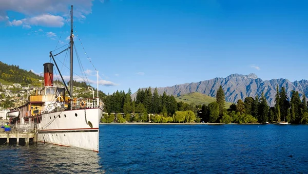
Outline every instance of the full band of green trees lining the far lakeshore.
[[(302, 100), (297, 91), (292, 91), (288, 100), (285, 88), (279, 90), (275, 97), (275, 106), (267, 104), (264, 93), (261, 96), (246, 97), (238, 100), (229, 108), (225, 108), (225, 95), (222, 86), (216, 94), (216, 101), (208, 105), (195, 105), (194, 103), (177, 102), (175, 97), (158, 94), (155, 88), (138, 90), (136, 98), (131, 99), (131, 91), (114, 92), (104, 98), (106, 110), (103, 122), (210, 122), (210, 123), (277, 123), (286, 121), (295, 124), (308, 123), (308, 107), (305, 95)], [(123, 113), (123, 114), (110, 114)]]

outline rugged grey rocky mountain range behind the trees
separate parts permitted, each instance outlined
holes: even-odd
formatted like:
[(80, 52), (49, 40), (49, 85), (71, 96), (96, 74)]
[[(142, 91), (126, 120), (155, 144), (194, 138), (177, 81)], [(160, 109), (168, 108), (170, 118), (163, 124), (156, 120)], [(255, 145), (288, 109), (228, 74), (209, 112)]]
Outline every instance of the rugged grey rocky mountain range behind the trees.
[[(220, 85), (225, 92), (227, 102), (236, 103), (239, 99), (244, 100), (246, 97), (255, 98), (256, 95), (261, 96), (263, 92), (269, 106), (275, 105), (277, 85), (279, 86), (279, 89), (282, 87), (286, 89), (289, 100), (291, 98), (292, 90), (298, 91), (300, 93), (300, 97), (302, 94), (307, 96), (308, 92), (308, 80), (300, 80), (294, 82), (283, 78), (262, 80), (253, 73), (248, 75), (231, 74), (226, 78), (217, 77), (210, 80), (176, 84), (174, 86), (167, 86), (157, 89), (160, 95), (166, 92), (167, 95), (174, 95), (176, 97), (183, 94), (198, 92), (210, 97), (215, 97)], [(145, 89), (147, 88), (142, 88), (142, 90)], [(152, 92), (153, 91), (154, 88), (152, 88)], [(132, 98), (135, 97), (136, 94), (137, 93), (132, 94)]]

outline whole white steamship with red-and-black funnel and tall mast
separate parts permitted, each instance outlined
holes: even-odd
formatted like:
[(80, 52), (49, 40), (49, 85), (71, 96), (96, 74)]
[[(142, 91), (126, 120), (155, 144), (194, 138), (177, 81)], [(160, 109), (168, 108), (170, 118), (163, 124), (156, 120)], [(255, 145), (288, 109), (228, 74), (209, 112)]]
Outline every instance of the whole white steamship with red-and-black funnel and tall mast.
[[(53, 63), (43, 64), (44, 87), (35, 90), (35, 94), (29, 96), (25, 105), (17, 107), (15, 111), (19, 115), (16, 124), (36, 125), (37, 141), (98, 152), (99, 123), (104, 103), (98, 96), (95, 98), (94, 94), (93, 98), (73, 97), (73, 37), (73, 6), (71, 6), (70, 46), (65, 49), (70, 50), (70, 85), (66, 85), (54, 59), (58, 54), (50, 52), (49, 56)], [(53, 86), (54, 66), (60, 73), (64, 88)]]

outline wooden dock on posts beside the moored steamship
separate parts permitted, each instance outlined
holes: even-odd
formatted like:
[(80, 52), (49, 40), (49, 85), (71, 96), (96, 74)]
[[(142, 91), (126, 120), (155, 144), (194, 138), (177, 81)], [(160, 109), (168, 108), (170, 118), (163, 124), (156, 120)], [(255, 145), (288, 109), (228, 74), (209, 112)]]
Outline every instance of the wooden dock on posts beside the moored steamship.
[(30, 139), (37, 142), (37, 134), (34, 132), (4, 132), (0, 133), (0, 139), (7, 139), (6, 143), (10, 143), (10, 139), (16, 139), (17, 144), (20, 138), (25, 139), (25, 143), (29, 144)]

